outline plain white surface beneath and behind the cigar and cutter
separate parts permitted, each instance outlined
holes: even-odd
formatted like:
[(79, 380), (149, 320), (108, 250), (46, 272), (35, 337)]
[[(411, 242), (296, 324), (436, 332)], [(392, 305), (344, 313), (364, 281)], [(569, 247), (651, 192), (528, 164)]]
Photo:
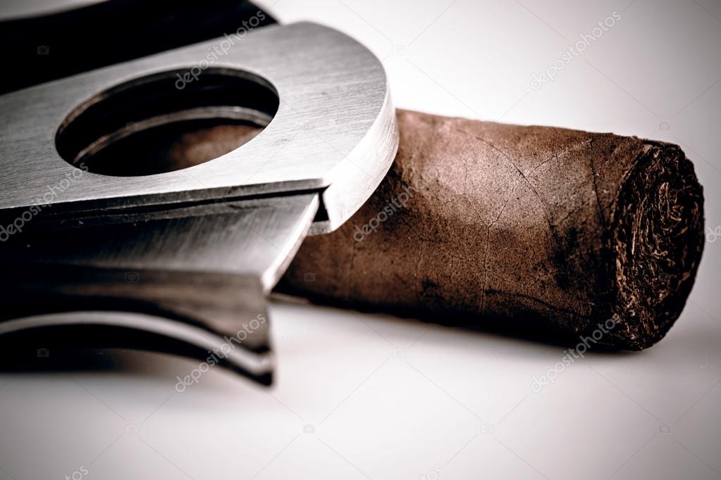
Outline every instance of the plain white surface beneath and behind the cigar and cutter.
[[(398, 107), (679, 143), (707, 225), (721, 225), (718, 1), (260, 3), (371, 47)], [(584, 57), (530, 88), (614, 10), (622, 19)], [(106, 353), (107, 370), (2, 374), (0, 479), (81, 467), (88, 479), (433, 479), (435, 467), (448, 480), (717, 479), (720, 266), (721, 237), (658, 345), (591, 352), (538, 393), (532, 377), (562, 348), (283, 303), (271, 389), (214, 368), (179, 394), (174, 377), (197, 363), (149, 353)]]

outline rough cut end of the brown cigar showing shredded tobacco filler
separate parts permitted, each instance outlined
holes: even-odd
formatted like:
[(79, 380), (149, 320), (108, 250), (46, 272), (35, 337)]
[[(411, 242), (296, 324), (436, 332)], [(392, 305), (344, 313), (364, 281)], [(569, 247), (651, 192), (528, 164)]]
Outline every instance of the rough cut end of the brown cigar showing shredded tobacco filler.
[(703, 202), (681, 148), (645, 140), (645, 154), (624, 175), (611, 206), (616, 345), (650, 347), (681, 314), (704, 246)]

